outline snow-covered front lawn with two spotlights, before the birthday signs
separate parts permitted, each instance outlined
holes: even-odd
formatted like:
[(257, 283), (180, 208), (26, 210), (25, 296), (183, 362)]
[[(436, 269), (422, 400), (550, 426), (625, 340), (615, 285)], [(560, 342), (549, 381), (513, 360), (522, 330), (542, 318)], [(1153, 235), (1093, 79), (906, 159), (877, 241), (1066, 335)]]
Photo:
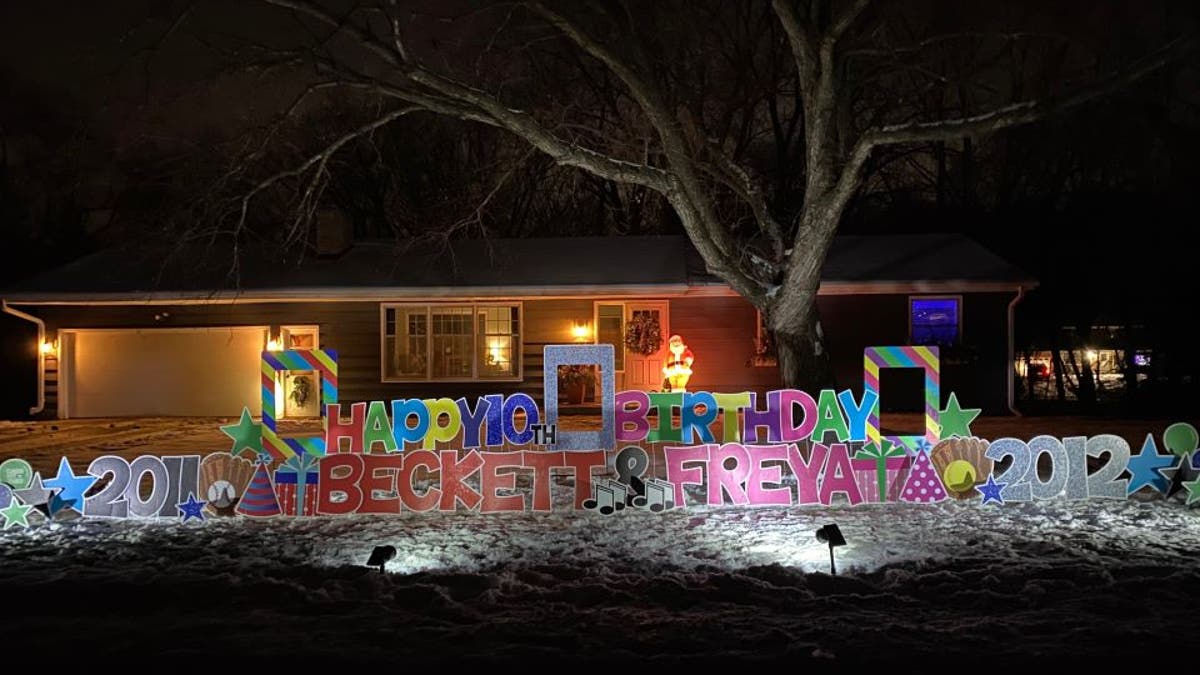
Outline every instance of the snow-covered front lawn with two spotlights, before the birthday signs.
[[(362, 567), (376, 544), (389, 574)], [(47, 668), (206, 673), (1150, 665), (1196, 657), (1198, 555), (1200, 510), (1162, 500), (86, 520), (0, 533), (0, 640)]]

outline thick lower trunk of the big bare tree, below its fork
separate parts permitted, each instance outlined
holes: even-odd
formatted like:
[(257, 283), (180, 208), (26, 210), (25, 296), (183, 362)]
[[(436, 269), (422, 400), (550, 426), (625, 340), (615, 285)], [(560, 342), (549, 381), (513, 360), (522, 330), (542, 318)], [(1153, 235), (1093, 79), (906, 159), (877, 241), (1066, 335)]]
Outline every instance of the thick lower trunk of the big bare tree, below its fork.
[(768, 325), (784, 387), (812, 394), (834, 387), (815, 292), (793, 293), (776, 301), (768, 311)]

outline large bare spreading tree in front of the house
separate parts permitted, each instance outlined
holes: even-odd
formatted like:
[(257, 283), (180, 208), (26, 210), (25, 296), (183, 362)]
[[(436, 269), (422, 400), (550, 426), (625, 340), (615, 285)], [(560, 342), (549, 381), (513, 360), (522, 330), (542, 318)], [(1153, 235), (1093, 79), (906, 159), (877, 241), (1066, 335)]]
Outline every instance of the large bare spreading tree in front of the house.
[[(1045, 36), (991, 24), (950, 30), (937, 6), (913, 19), (871, 0), (530, 0), (434, 20), (396, 0), (258, 1), (290, 34), (302, 26), (301, 46), (251, 50), (276, 70), (314, 73), (289, 112), (340, 91), (378, 113), (257, 180), (227, 214), (235, 229), (254, 195), (284, 180), (299, 185), (298, 229), (330, 159), (397, 120), (434, 113), (491, 126), (560, 166), (660, 196), (709, 273), (763, 311), (784, 383), (799, 387), (830, 380), (815, 301), (821, 269), (881, 149), (962, 142), (970, 153), (972, 138), (1079, 108), (1195, 42), (1170, 40), (1114, 68), (1052, 53), (1042, 66), (1072, 64), (1088, 82), (1027, 97), (1028, 88), (989, 80), (985, 60), (965, 68), (953, 56), (964, 49), (947, 46), (1012, 56), (1014, 42)], [(929, 30), (904, 30), (913, 20)], [(932, 106), (942, 114), (929, 115), (931, 97), (946, 102)]]

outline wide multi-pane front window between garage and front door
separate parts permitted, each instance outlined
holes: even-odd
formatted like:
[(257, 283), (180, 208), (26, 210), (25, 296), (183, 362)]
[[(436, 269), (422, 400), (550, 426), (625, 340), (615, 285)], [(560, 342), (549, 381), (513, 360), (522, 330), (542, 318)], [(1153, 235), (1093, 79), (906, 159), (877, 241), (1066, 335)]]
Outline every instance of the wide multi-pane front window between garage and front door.
[(520, 380), (520, 304), (383, 305), (383, 381)]

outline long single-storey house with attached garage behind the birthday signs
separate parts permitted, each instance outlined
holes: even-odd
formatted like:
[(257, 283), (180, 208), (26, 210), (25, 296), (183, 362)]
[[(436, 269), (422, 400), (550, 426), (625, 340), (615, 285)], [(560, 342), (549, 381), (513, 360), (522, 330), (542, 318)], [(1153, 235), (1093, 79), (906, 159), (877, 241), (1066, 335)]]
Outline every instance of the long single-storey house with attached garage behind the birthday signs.
[[(344, 401), (536, 399), (542, 347), (593, 341), (617, 346), (618, 389), (655, 390), (672, 334), (695, 354), (690, 389), (780, 386), (756, 348), (757, 311), (706, 273), (685, 237), (342, 247), (289, 262), (244, 251), (233, 265), (227, 251), (127, 246), (4, 291), (5, 312), (43, 335), (34, 412), (226, 417), (248, 405), (257, 414), (264, 348), (336, 350)], [(840, 237), (818, 298), (839, 387), (860, 390), (864, 347), (941, 344), (942, 390), (1006, 411), (1013, 307), (1034, 285), (956, 234)], [(660, 352), (623, 347), (634, 317), (658, 319)], [(919, 378), (895, 382), (920, 410)], [(298, 405), (289, 387), (283, 414), (316, 414), (316, 398)]]

